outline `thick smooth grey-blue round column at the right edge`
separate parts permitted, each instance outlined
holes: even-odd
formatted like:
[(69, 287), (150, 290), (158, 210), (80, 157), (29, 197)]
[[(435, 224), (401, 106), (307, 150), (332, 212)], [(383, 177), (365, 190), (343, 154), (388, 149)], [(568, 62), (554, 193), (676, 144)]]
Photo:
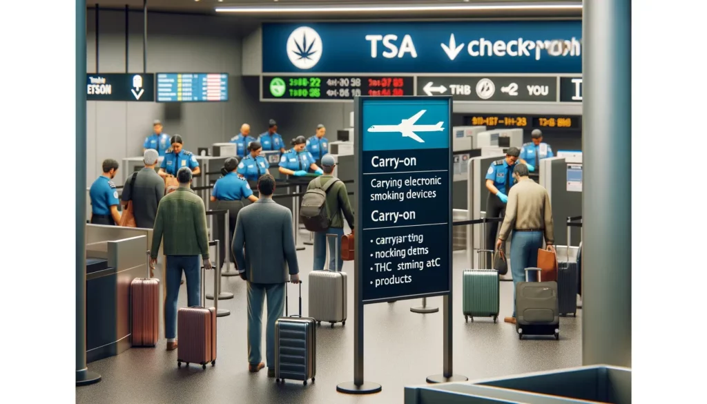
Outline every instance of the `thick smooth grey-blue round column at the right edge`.
[(582, 363), (631, 367), (631, 0), (583, 6)]

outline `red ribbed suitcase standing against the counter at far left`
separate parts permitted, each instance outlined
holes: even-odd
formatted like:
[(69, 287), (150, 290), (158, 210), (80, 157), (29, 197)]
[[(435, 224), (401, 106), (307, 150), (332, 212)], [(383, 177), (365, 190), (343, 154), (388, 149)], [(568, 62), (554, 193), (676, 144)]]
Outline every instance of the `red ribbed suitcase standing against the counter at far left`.
[(134, 347), (154, 347), (160, 334), (160, 281), (150, 278), (150, 251), (147, 277), (130, 283), (131, 343)]

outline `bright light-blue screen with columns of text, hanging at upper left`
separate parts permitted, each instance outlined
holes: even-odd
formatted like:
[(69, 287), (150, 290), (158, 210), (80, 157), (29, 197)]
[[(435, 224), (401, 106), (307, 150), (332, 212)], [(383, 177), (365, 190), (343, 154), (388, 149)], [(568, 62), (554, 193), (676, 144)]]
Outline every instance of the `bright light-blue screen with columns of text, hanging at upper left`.
[(158, 73), (158, 103), (228, 101), (226, 73)]

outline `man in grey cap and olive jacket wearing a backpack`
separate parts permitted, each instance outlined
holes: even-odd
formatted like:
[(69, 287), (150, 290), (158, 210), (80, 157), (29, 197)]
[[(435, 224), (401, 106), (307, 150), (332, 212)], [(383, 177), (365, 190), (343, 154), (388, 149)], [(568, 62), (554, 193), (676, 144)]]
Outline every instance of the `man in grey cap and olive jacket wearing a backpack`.
[[(336, 165), (334, 156), (331, 154), (322, 156), (322, 171), (324, 171), (324, 175), (312, 180), (307, 189), (324, 187), (329, 181), (336, 180), (332, 175)], [(341, 237), (344, 236), (344, 218), (346, 218), (351, 231), (354, 231), (354, 210), (351, 209), (346, 185), (341, 183), (341, 181), (331, 185), (327, 190), (327, 216), (329, 217), (329, 229), (314, 233), (314, 270), (324, 269), (325, 260), (327, 259), (327, 234), (335, 234), (339, 248), (335, 248), (334, 244), (329, 244), (329, 270), (340, 271), (344, 265), (344, 260), (341, 260)], [(334, 253), (334, 250), (337, 250), (338, 253)], [(336, 260), (334, 260), (334, 257), (336, 257)]]

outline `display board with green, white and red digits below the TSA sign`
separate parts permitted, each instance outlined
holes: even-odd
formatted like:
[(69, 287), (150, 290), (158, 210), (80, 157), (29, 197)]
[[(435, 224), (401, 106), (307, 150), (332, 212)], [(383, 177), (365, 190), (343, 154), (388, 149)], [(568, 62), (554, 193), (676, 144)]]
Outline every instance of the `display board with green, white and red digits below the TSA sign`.
[(356, 96), (414, 96), (410, 76), (262, 76), (263, 100), (353, 100)]

